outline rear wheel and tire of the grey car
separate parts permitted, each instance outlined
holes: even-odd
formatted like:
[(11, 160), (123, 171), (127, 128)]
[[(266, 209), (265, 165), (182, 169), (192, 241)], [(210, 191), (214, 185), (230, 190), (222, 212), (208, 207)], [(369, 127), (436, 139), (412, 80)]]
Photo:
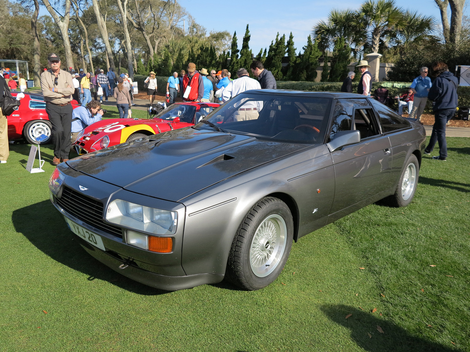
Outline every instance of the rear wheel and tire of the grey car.
[(383, 199), (389, 207), (406, 207), (415, 197), (419, 176), (419, 163), (415, 154), (410, 155), (405, 165), (395, 193)]

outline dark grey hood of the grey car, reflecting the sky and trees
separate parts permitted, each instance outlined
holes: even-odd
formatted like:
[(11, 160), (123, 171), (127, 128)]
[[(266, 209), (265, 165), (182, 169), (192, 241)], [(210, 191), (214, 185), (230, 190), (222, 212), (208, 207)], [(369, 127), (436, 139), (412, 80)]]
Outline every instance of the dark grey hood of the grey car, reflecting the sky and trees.
[(89, 153), (67, 164), (128, 191), (178, 201), (308, 147), (185, 128)]

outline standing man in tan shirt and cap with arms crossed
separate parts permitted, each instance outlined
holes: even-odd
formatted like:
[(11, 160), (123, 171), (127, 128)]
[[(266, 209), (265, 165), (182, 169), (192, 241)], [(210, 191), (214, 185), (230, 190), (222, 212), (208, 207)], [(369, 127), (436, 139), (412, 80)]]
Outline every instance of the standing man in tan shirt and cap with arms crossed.
[(41, 89), (46, 101), (46, 112), (52, 123), (52, 142), (54, 143), (54, 159), (58, 165), (61, 161), (69, 160), (71, 148), (72, 126), (72, 75), (60, 69), (60, 58), (57, 54), (49, 54), (47, 61), (50, 69), (41, 74)]

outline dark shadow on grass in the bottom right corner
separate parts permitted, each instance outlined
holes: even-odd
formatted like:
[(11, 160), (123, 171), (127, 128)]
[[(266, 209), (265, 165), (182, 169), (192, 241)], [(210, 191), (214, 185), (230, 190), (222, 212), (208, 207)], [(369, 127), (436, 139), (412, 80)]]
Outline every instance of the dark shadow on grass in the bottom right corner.
[[(462, 350), (447, 347), (410, 335), (391, 321), (379, 317), (379, 312), (367, 313), (351, 306), (324, 305), (321, 311), (332, 321), (351, 330), (351, 339), (359, 347), (369, 352), (460, 352)], [(352, 314), (347, 319), (345, 317)], [(423, 323), (423, 329), (433, 329)], [(383, 332), (380, 332), (382, 330)], [(437, 333), (436, 333), (437, 335)], [(455, 341), (452, 341), (455, 343)], [(449, 344), (452, 342), (449, 341)]]

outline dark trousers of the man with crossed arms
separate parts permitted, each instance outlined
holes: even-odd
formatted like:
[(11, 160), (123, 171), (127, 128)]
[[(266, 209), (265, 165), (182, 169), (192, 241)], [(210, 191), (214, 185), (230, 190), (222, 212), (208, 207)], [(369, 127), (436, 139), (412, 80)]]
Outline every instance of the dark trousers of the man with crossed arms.
[(46, 104), (47, 116), (52, 124), (52, 142), (54, 143), (54, 156), (56, 158), (69, 159), (72, 111), (71, 104), (64, 107)]

